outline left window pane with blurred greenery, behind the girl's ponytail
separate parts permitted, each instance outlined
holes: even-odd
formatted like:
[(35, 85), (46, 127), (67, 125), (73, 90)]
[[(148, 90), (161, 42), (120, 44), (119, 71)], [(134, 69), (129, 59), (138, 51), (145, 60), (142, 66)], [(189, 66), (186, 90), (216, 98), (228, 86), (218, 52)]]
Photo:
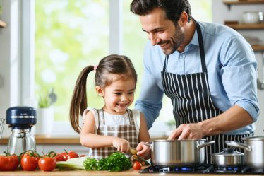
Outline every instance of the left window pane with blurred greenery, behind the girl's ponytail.
[[(109, 53), (109, 1), (35, 1), (35, 95), (57, 94), (55, 121), (68, 120), (71, 94), (81, 69)], [(88, 101), (94, 101), (92, 74)]]

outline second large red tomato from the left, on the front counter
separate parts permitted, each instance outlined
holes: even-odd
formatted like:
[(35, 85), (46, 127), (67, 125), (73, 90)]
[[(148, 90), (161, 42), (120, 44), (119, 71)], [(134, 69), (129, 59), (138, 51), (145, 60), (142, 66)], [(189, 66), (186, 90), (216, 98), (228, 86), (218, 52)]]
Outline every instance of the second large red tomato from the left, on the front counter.
[(38, 157), (24, 154), (20, 160), (20, 166), (23, 170), (35, 170), (37, 168)]

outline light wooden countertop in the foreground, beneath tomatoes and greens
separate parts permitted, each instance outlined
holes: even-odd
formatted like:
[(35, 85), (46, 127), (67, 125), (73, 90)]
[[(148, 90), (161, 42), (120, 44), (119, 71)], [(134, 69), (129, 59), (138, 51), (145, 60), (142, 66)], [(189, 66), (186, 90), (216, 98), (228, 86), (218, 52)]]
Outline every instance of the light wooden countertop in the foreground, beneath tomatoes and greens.
[[(203, 174), (172, 174), (172, 173), (152, 173), (152, 174), (142, 174), (139, 173), (137, 170), (126, 170), (123, 172), (108, 172), (108, 171), (85, 171), (85, 170), (53, 170), (51, 172), (44, 172), (42, 170), (34, 170), (34, 171), (24, 171), (24, 170), (16, 170), (16, 171), (9, 171), (9, 172), (4, 172), (4, 171), (0, 171), (0, 175), (7, 175), (7, 176), (12, 176), (12, 175), (26, 175), (26, 176), (42, 176), (42, 175), (54, 175), (54, 176), (76, 176), (76, 175), (89, 175), (89, 176), (93, 176), (93, 175), (104, 175), (104, 176), (124, 176), (124, 175), (150, 175), (150, 176), (157, 176), (157, 175), (166, 175), (166, 176), (176, 176), (176, 175), (185, 175), (185, 176), (198, 176), (198, 175), (203, 175)], [(220, 174), (206, 174), (208, 176), (219, 176)], [(225, 176), (228, 174), (224, 174)], [(234, 174), (230, 174), (230, 176), (234, 176)], [(241, 174), (242, 175), (242, 174)], [(247, 175), (247, 176), (253, 176), (253, 175)], [(254, 175), (256, 176), (256, 175)]]

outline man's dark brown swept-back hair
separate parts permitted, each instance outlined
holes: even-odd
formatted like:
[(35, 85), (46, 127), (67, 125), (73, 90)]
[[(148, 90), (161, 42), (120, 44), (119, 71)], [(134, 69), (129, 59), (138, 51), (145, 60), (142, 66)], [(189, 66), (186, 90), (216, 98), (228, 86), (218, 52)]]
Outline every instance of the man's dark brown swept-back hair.
[(183, 11), (188, 14), (188, 22), (191, 20), (191, 6), (188, 0), (133, 0), (130, 11), (139, 16), (145, 16), (155, 8), (161, 8), (168, 20), (176, 23)]

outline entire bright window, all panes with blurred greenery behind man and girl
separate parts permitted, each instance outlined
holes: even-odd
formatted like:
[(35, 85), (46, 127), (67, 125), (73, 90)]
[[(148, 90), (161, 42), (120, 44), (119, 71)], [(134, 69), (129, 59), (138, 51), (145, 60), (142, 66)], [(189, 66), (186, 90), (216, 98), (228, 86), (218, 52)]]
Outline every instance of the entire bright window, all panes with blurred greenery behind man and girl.
[[(68, 123), (68, 110), (78, 74), (87, 65), (96, 65), (110, 53), (109, 41), (116, 33), (109, 30), (110, 21), (119, 23), (119, 18), (109, 18), (112, 8), (121, 11), (121, 28), (117, 35), (121, 40), (121, 51), (136, 66), (140, 92), (143, 75), (143, 49), (147, 36), (141, 30), (138, 16), (130, 12), (131, 1), (121, 0), (35, 0), (35, 97), (49, 93), (57, 94), (55, 121)], [(192, 15), (196, 20), (211, 20), (211, 1), (191, 0)], [(196, 8), (194, 8), (196, 7)], [(118, 42), (117, 42), (118, 44)], [(112, 45), (117, 45), (112, 43)], [(88, 76), (88, 106), (102, 107), (102, 98), (94, 89), (94, 73)], [(136, 99), (135, 98), (135, 99)], [(169, 114), (167, 112), (170, 112)], [(172, 119), (172, 105), (164, 98), (164, 107), (154, 126), (153, 134), (164, 134), (165, 122)], [(157, 127), (162, 124), (165, 127)], [(162, 129), (162, 133), (160, 132)]]

